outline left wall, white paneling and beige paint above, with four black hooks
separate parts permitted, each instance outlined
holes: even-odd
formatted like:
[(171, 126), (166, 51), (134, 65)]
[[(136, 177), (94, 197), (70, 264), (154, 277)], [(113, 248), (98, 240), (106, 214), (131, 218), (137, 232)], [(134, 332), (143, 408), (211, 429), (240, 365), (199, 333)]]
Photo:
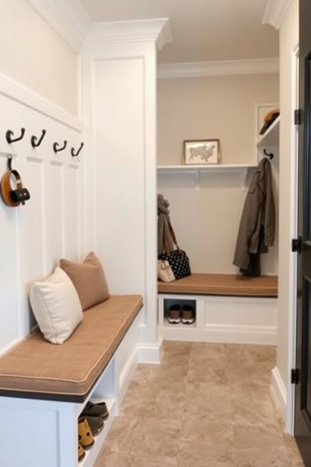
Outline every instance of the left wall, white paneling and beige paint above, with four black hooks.
[[(83, 254), (82, 164), (70, 154), (83, 141), (79, 56), (44, 17), (44, 8), (36, 8), (39, 4), (16, 0), (0, 18), (5, 44), (0, 51), (0, 177), (11, 154), (12, 167), (30, 192), (30, 200), (17, 208), (0, 200), (0, 354), (35, 325), (28, 304), (31, 283), (50, 274), (60, 256)], [(51, 18), (52, 10), (46, 12)], [(7, 130), (17, 138), (22, 127), (24, 138), (8, 144)], [(39, 138), (42, 129), (46, 134), (34, 149), (31, 137)], [(54, 142), (62, 146), (64, 140), (67, 148), (55, 154)]]

